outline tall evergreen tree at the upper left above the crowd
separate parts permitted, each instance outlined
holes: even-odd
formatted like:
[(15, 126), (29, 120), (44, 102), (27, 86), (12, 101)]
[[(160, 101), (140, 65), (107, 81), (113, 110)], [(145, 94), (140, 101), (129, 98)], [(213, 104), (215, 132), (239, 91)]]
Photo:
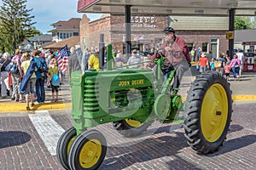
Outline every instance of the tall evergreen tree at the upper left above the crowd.
[(0, 50), (15, 51), (19, 44), (38, 34), (32, 22), (32, 9), (26, 9), (26, 0), (3, 0), (0, 8)]

